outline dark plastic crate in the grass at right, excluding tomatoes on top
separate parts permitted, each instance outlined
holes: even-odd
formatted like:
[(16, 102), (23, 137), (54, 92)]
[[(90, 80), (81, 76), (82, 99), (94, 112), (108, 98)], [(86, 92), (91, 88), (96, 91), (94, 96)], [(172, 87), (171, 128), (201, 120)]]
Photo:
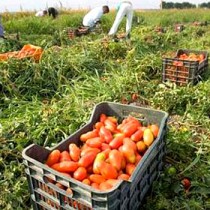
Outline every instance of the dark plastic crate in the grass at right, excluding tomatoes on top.
[[(205, 59), (199, 63), (199, 61), (182, 60), (178, 57), (181, 54), (195, 53), (204, 54)], [(179, 61), (182, 65), (177, 66), (174, 62)], [(202, 74), (208, 69), (208, 53), (206, 51), (196, 50), (178, 50), (175, 58), (163, 58), (162, 59), (162, 81), (174, 82), (177, 85), (184, 86), (188, 83), (195, 85), (201, 80)]]

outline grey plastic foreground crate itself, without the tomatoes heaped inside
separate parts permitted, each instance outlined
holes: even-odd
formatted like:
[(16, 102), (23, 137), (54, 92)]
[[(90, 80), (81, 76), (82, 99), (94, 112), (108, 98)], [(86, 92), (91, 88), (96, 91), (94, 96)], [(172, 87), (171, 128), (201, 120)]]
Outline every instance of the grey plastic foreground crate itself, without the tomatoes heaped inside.
[[(120, 181), (114, 188), (107, 191), (96, 190), (73, 178), (63, 176), (59, 172), (44, 165), (44, 161), (53, 149), (66, 150), (70, 143), (80, 144), (81, 134), (92, 130), (93, 124), (99, 120), (100, 114), (116, 116), (124, 119), (129, 115), (137, 117), (143, 123), (159, 125), (159, 134), (153, 144), (143, 155), (135, 171), (128, 181)], [(90, 121), (77, 132), (69, 136), (52, 149), (38, 145), (30, 145), (22, 152), (26, 174), (34, 209), (138, 209), (158, 177), (163, 167), (165, 154), (165, 134), (168, 114), (163, 111), (142, 108), (133, 105), (122, 105), (112, 102), (102, 102), (95, 106)], [(54, 180), (66, 188), (71, 188), (73, 194), (58, 188), (49, 180)]]

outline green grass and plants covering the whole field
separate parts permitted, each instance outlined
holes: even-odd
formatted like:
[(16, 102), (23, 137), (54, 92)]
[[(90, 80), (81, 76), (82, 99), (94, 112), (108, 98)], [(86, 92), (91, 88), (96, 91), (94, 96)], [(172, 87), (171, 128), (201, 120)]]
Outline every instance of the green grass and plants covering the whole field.
[[(44, 54), (39, 63), (0, 63), (0, 209), (30, 209), (23, 148), (55, 145), (89, 120), (95, 104), (131, 103), (133, 93), (142, 106), (170, 114), (164, 171), (143, 209), (209, 209), (210, 70), (196, 86), (161, 83), (163, 56), (180, 48), (210, 53), (210, 26), (192, 26), (209, 21), (209, 11), (139, 11), (141, 23), (133, 25), (130, 42), (104, 43), (112, 12), (102, 19), (103, 33), (69, 40), (65, 29), (80, 25), (84, 13), (63, 11), (56, 20), (3, 14), (6, 35), (18, 31), (20, 40), (1, 43), (1, 52), (31, 43)], [(174, 32), (176, 23), (185, 25), (182, 33)], [(159, 25), (166, 33), (154, 32)], [(171, 166), (177, 170), (173, 176), (167, 173)], [(192, 182), (189, 192), (181, 185), (183, 177)]]

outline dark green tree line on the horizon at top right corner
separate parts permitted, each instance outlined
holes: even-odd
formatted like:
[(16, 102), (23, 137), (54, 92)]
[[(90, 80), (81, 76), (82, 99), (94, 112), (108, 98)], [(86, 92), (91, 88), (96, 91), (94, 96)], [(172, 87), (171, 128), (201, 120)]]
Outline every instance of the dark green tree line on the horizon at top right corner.
[[(197, 6), (195, 4), (191, 4), (189, 2), (162, 2), (162, 9), (190, 9), (190, 8), (196, 8)], [(198, 5), (199, 8), (210, 8), (210, 2), (207, 3), (201, 3)]]

